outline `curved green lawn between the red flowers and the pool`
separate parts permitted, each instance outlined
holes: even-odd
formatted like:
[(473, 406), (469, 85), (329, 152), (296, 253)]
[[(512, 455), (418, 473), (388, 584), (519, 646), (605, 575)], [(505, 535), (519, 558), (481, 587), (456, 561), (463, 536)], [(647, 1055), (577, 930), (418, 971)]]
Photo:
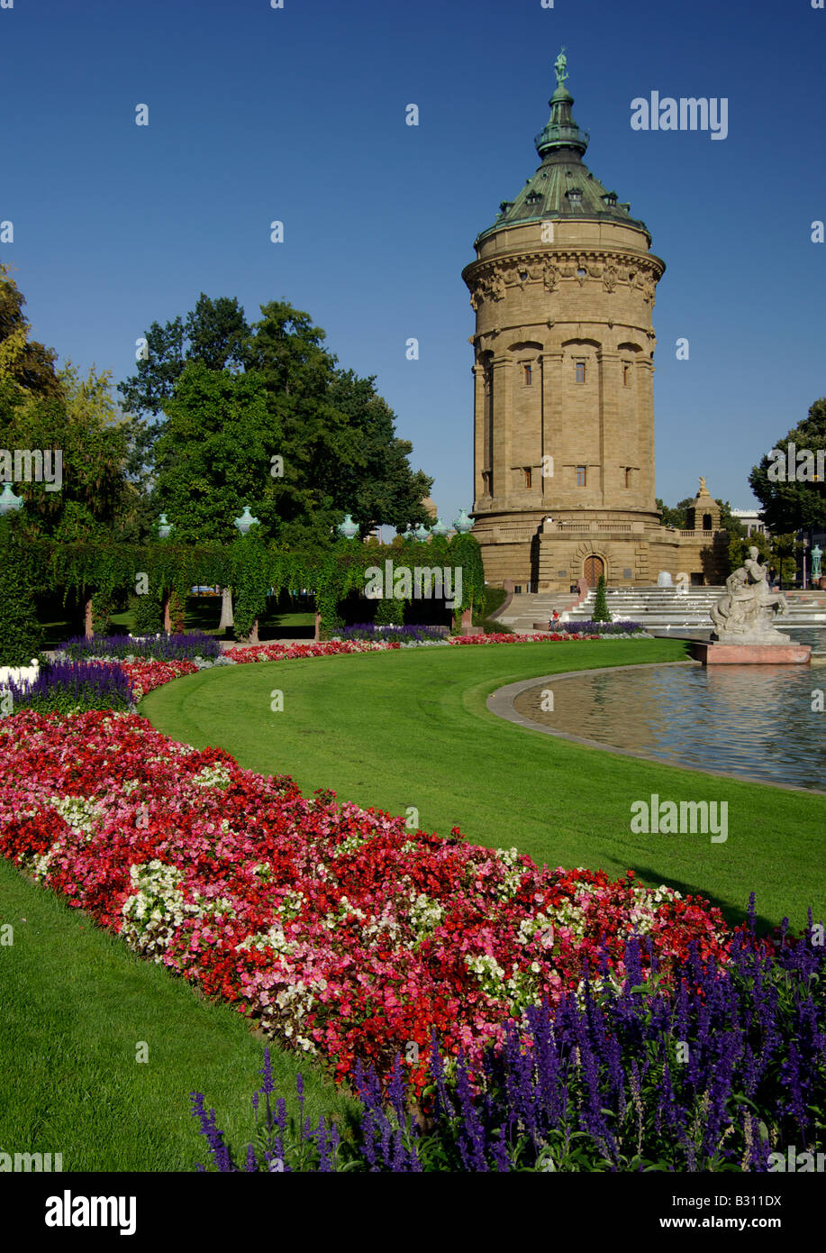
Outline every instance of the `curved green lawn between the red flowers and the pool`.
[[(826, 912), (826, 799), (625, 758), (494, 717), (496, 688), (567, 669), (678, 660), (680, 640), (472, 645), (257, 663), (158, 688), (141, 713), (174, 739), (220, 746), (312, 793), (404, 814), (447, 834), (516, 846), (551, 866), (635, 870), (652, 886), (702, 893), (735, 922), (748, 893), (773, 926)], [(270, 693), (284, 693), (273, 713)], [(728, 840), (633, 834), (631, 803), (727, 801)]]

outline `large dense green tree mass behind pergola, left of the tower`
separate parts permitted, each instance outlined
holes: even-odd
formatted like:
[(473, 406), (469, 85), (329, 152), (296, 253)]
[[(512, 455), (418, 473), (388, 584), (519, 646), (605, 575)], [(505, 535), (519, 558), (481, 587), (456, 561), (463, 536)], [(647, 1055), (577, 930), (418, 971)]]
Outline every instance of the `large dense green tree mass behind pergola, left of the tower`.
[[(328, 544), (345, 512), (364, 533), (369, 524), (427, 521), (422, 499), (433, 480), (410, 469), (412, 445), (395, 436), (374, 378), (338, 370), (324, 331), (302, 309), (272, 301), (260, 312), (247, 327), (235, 301), (201, 294), (185, 321), (153, 323), (150, 358), (120, 390), (146, 415), (133, 426), (129, 471), (138, 489), (154, 492), (155, 512), (166, 510), (179, 538), (203, 536), (240, 496), (262, 534), (285, 546)], [(215, 388), (209, 375), (222, 380)], [(248, 383), (237, 387), (242, 378)], [(223, 405), (234, 445), (220, 434)]]

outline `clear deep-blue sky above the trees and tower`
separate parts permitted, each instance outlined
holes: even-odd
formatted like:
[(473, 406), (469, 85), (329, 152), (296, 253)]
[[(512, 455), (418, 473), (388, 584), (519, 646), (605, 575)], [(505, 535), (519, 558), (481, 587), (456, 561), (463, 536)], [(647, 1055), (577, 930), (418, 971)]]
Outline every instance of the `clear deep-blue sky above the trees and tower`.
[[(538, 165), (562, 44), (586, 163), (667, 264), (657, 495), (675, 504), (705, 474), (748, 507), (750, 467), (826, 393), (826, 244), (810, 231), (826, 218), (826, 11), (811, 0), (14, 0), (0, 258), (35, 337), (119, 381), (149, 323), (201, 291), (250, 321), (287, 299), (342, 366), (378, 376), (451, 520), (472, 504), (461, 271)], [(728, 137), (633, 132), (631, 100), (652, 90), (727, 98)]]

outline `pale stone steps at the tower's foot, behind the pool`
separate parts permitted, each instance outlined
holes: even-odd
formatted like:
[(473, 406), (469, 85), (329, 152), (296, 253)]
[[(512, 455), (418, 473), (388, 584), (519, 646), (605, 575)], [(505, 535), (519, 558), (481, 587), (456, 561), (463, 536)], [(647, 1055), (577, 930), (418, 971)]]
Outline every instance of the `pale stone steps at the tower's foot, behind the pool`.
[[(708, 628), (708, 610), (722, 596), (725, 588), (607, 588), (606, 596), (612, 619), (630, 619), (651, 628)], [(498, 621), (517, 634), (547, 629), (556, 609), (563, 621), (592, 616), (596, 589), (576, 609), (564, 610), (576, 593), (523, 593), (514, 595)], [(782, 619), (786, 626), (826, 626), (826, 591), (787, 591), (790, 613)], [(537, 626), (537, 624), (542, 624)]]

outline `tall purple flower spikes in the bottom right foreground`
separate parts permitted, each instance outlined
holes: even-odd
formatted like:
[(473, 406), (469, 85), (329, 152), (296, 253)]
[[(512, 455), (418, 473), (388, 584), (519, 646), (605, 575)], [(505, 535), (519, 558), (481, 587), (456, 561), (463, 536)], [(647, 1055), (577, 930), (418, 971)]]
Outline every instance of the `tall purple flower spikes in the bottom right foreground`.
[(772, 1155), (791, 1145), (815, 1153), (822, 1134), (821, 940), (810, 911), (805, 936), (791, 942), (783, 928), (772, 951), (756, 940), (752, 897), (728, 962), (702, 962), (693, 952), (671, 992), (641, 986), (643, 941), (632, 940), (621, 987), (599, 984), (594, 971), (553, 1011), (529, 1007), (481, 1071), (459, 1058), (448, 1078), (434, 1041), (418, 1121), (397, 1059), (385, 1091), (357, 1068), (363, 1113), (354, 1135), (304, 1120), (299, 1076), (297, 1138), (284, 1100), (270, 1100), (268, 1053), (253, 1099), (258, 1116), (264, 1098), (263, 1126), (243, 1165), (199, 1093), (193, 1113), (223, 1172), (767, 1172)]

